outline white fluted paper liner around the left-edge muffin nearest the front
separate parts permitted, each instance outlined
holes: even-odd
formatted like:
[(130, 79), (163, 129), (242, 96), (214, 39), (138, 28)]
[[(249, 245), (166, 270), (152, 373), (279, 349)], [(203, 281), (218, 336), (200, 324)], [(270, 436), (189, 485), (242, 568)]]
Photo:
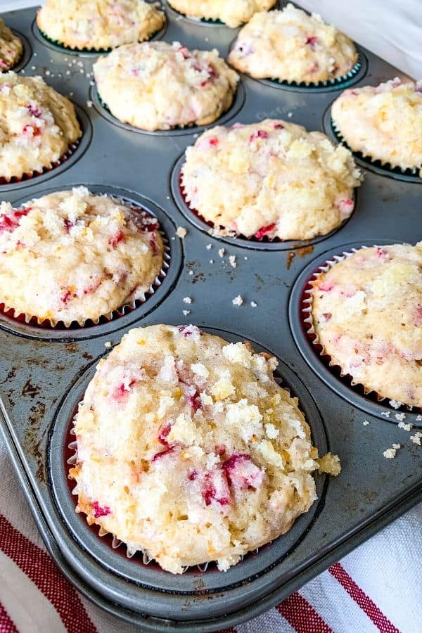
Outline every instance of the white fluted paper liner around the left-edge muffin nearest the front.
[[(110, 195), (109, 197), (113, 198), (113, 200), (116, 200), (120, 204), (128, 207), (129, 209), (132, 209), (135, 211), (141, 211), (141, 212), (146, 213), (150, 217), (154, 217), (146, 209), (143, 209), (143, 207), (138, 207), (134, 205), (133, 203), (127, 203), (127, 201), (122, 200), (118, 198), (117, 196)], [(157, 219), (157, 222), (159, 223), (158, 219)], [(145, 303), (148, 300), (148, 298), (151, 297), (155, 293), (155, 290), (160, 288), (162, 281), (167, 276), (167, 270), (170, 268), (170, 261), (171, 261), (170, 245), (169, 245), (167, 235), (165, 234), (164, 230), (161, 228), (160, 224), (157, 230), (160, 233), (163, 247), (164, 247), (163, 254), (162, 254), (163, 255), (162, 267), (158, 275), (155, 277), (153, 283), (151, 283), (151, 286), (139, 298), (134, 299), (129, 302), (125, 302), (123, 305), (121, 305), (120, 307), (114, 310), (111, 310), (107, 314), (101, 314), (101, 316), (98, 316), (98, 319), (81, 319), (80, 321), (75, 321), (74, 319), (66, 320), (66, 321), (64, 321), (63, 319), (56, 320), (56, 319), (51, 319), (51, 318), (42, 319), (41, 317), (34, 316), (33, 314), (25, 314), (23, 312), (17, 312), (13, 306), (10, 306), (1, 302), (0, 302), (0, 312), (3, 314), (6, 314), (6, 316), (8, 316), (11, 319), (15, 319), (16, 321), (19, 321), (20, 323), (25, 323), (31, 326), (39, 326), (41, 328), (46, 328), (46, 329), (55, 329), (55, 328), (61, 329), (62, 326), (64, 326), (66, 329), (75, 329), (75, 328), (79, 329), (79, 328), (91, 327), (94, 325), (101, 324), (103, 322), (119, 319), (120, 316), (124, 316), (124, 314), (127, 314), (127, 312), (132, 312), (134, 309), (143, 305), (143, 303)]]

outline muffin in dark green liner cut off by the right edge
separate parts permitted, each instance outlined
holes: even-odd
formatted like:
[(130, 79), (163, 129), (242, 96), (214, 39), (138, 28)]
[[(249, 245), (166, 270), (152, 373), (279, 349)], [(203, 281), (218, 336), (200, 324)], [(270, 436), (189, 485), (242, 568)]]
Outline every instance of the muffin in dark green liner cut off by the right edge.
[(352, 151), (422, 176), (422, 81), (345, 90), (331, 117)]

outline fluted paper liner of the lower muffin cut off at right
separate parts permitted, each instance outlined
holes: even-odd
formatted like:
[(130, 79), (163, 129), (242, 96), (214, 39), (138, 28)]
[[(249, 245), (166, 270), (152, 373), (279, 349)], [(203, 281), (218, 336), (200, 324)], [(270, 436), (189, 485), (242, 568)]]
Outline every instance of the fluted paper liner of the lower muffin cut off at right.
[[(374, 244), (374, 247), (377, 245)], [(334, 255), (330, 260), (326, 260), (324, 264), (321, 264), (318, 269), (312, 274), (312, 278), (309, 279), (306, 283), (306, 286), (302, 293), (302, 300), (300, 305), (300, 314), (302, 316), (302, 325), (305, 330), (305, 334), (307, 335), (308, 340), (312, 343), (313, 349), (316, 354), (321, 357), (321, 360), (324, 364), (328, 365), (329, 369), (333, 371), (334, 376), (340, 376), (341, 380), (349, 387), (352, 387), (353, 390), (357, 392), (364, 392), (365, 397), (372, 396), (376, 398), (377, 402), (382, 402), (385, 406), (398, 411), (414, 411), (418, 409), (418, 407), (412, 407), (410, 404), (404, 404), (403, 402), (397, 402), (396, 400), (389, 398), (388, 396), (383, 396), (379, 394), (376, 390), (366, 387), (363, 383), (359, 381), (355, 381), (353, 376), (347, 371), (343, 371), (341, 366), (334, 362), (331, 358), (330, 354), (326, 351), (324, 345), (321, 343), (318, 334), (314, 328), (314, 321), (312, 319), (312, 305), (313, 305), (313, 290), (316, 285), (316, 281), (318, 280), (321, 274), (328, 272), (335, 264), (339, 262), (344, 262), (347, 257), (351, 257), (355, 252), (366, 248), (371, 248), (369, 246), (362, 246), (361, 248), (352, 248), (349, 251), (343, 251), (341, 255)], [(337, 368), (337, 371), (334, 369)], [(372, 399), (372, 398), (371, 398)], [(422, 409), (421, 409), (422, 410)]]

